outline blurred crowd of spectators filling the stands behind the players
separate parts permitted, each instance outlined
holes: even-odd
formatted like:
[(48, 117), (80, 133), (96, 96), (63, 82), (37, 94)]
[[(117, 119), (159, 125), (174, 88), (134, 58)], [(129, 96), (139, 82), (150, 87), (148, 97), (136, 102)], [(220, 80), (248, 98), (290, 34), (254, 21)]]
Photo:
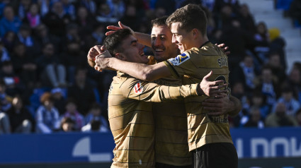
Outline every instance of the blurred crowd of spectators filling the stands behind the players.
[(285, 73), (280, 31), (238, 0), (1, 0), (0, 133), (109, 131), (115, 72), (89, 67), (90, 47), (118, 20), (149, 34), (152, 19), (188, 3), (203, 6), (210, 41), (231, 52), (229, 85), (243, 109), (230, 126), (301, 126), (301, 62)]

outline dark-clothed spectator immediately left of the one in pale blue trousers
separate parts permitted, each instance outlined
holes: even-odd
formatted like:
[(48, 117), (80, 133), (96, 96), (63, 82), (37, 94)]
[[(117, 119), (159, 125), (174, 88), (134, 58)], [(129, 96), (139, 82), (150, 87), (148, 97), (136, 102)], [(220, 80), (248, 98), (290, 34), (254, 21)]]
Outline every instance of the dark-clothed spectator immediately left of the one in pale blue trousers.
[(26, 47), (23, 43), (17, 43), (13, 48), (11, 57), (14, 71), (17, 76), (20, 76), (25, 86), (33, 88), (37, 80), (37, 65), (33, 54), (26, 53)]

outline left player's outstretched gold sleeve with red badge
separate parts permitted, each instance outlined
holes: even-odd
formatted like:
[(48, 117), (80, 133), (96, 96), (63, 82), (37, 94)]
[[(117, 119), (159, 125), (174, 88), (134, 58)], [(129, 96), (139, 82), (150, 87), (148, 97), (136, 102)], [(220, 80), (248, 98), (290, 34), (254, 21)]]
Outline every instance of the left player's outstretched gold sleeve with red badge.
[(198, 84), (180, 86), (157, 85), (156, 83), (128, 78), (121, 87), (125, 97), (145, 102), (181, 100), (188, 96), (198, 95)]

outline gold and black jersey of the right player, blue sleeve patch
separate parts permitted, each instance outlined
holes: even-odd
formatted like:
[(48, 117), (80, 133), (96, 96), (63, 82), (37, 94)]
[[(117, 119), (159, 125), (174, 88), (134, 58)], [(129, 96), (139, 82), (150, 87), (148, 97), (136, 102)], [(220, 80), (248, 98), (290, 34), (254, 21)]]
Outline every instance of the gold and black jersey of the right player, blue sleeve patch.
[[(211, 70), (210, 80), (225, 80), (228, 83), (227, 55), (210, 42), (200, 48), (189, 49), (164, 63), (175, 77), (189, 77), (183, 84), (199, 83)], [(208, 116), (208, 111), (202, 106), (203, 100), (207, 98), (203, 95), (185, 99), (190, 151), (208, 143), (232, 143), (228, 115)]]

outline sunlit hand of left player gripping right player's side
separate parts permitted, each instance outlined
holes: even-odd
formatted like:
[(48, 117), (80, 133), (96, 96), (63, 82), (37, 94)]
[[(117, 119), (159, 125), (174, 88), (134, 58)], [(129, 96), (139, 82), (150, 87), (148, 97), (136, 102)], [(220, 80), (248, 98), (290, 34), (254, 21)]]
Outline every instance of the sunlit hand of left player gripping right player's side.
[[(227, 87), (227, 84), (224, 83), (224, 80), (210, 81), (208, 78), (212, 75), (212, 71), (204, 76), (203, 80), (200, 82), (200, 87), (198, 92), (202, 92), (204, 95), (215, 97), (221, 93), (227, 93), (228, 90), (220, 90), (221, 88)], [(202, 95), (202, 94), (200, 94)]]

